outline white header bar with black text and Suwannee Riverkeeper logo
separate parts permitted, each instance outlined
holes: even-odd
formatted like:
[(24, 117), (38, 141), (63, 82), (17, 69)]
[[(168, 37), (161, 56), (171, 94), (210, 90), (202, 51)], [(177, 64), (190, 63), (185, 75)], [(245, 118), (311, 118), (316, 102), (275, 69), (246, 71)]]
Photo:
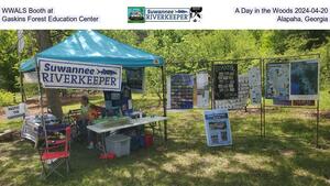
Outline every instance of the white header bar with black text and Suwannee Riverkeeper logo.
[(1, 0), (0, 29), (330, 29), (330, 3), (329, 0)]

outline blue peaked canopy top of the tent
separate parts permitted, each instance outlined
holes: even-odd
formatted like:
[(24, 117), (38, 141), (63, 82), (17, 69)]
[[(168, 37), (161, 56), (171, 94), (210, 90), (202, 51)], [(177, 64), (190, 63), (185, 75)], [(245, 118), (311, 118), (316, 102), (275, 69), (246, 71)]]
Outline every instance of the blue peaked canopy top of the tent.
[[(122, 67), (163, 66), (162, 57), (112, 40), (96, 31), (77, 31), (59, 44), (38, 54), (36, 58), (121, 65)], [(21, 72), (35, 70), (35, 57), (21, 64)]]

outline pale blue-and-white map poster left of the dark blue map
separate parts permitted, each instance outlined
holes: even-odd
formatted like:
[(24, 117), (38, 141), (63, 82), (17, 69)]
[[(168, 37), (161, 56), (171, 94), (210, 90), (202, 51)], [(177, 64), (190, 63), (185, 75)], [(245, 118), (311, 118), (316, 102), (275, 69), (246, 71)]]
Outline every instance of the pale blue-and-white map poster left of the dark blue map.
[(266, 65), (266, 98), (289, 99), (289, 63), (270, 63)]

